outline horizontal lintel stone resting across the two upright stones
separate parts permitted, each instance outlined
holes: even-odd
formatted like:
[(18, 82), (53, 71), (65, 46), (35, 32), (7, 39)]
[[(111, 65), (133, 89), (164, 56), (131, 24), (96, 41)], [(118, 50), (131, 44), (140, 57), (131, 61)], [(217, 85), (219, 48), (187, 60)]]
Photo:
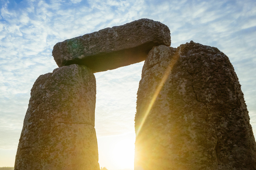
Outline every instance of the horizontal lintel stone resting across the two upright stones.
[(141, 62), (154, 45), (171, 45), (169, 28), (140, 19), (58, 42), (52, 55), (59, 67), (76, 63), (95, 73)]

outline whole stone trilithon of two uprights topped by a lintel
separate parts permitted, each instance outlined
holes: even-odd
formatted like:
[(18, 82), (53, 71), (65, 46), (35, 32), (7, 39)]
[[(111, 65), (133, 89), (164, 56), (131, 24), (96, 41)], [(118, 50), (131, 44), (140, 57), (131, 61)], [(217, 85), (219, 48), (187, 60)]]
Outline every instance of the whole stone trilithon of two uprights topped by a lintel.
[(59, 66), (31, 89), (15, 170), (99, 170), (93, 73), (145, 60), (135, 115), (135, 170), (255, 170), (256, 144), (228, 57), (170, 47), (149, 19), (58, 42)]

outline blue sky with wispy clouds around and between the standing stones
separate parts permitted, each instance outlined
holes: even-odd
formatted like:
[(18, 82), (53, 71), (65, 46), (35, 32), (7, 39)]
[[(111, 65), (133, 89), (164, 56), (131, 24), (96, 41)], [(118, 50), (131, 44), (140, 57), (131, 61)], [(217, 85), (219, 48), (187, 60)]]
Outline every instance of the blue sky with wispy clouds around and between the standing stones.
[[(0, 0), (0, 167), (14, 166), (30, 90), (57, 68), (57, 42), (148, 18), (167, 25), (171, 46), (217, 47), (233, 64), (256, 132), (255, 0)], [(133, 169), (136, 93), (144, 62), (95, 73), (99, 163)]]

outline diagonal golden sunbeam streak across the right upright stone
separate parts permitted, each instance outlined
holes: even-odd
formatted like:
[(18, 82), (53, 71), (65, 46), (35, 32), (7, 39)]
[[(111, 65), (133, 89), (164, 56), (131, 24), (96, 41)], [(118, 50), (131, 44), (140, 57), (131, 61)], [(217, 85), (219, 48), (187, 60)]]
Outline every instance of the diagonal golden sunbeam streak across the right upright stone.
[(148, 117), (148, 114), (149, 114), (149, 112), (150, 112), (152, 106), (154, 105), (154, 103), (155, 103), (155, 101), (156, 101), (156, 98), (157, 98), (157, 96), (158, 96), (160, 90), (162, 89), (164, 83), (166, 82), (168, 76), (170, 75), (170, 73), (171, 73), (171, 71), (172, 71), (172, 68), (173, 68), (174, 64), (176, 63), (178, 57), (180, 56), (179, 54), (180, 54), (180, 51), (178, 52), (178, 55), (177, 55), (177, 54), (174, 55), (173, 58), (171, 59), (170, 64), (169, 64), (169, 66), (167, 67), (167, 69), (166, 69), (166, 71), (165, 71), (165, 73), (164, 73), (164, 75), (163, 75), (163, 77), (162, 77), (162, 80), (161, 80), (161, 82), (159, 83), (159, 85), (157, 86), (156, 91), (155, 91), (155, 93), (154, 93), (154, 95), (153, 95), (153, 97), (152, 97), (152, 99), (151, 99), (151, 101), (150, 101), (150, 103), (149, 103), (149, 105), (148, 105), (148, 108), (147, 108), (147, 110), (146, 110), (145, 113), (144, 113), (144, 116), (143, 116), (143, 118), (142, 118), (141, 124), (140, 124), (140, 126), (139, 126), (139, 128), (138, 128), (138, 130), (137, 130), (137, 132), (136, 132), (136, 136), (138, 136), (138, 134), (140, 133), (140, 130), (141, 130), (141, 128), (143, 127), (143, 124), (145, 123), (145, 121), (146, 121), (146, 119), (147, 119), (147, 117)]

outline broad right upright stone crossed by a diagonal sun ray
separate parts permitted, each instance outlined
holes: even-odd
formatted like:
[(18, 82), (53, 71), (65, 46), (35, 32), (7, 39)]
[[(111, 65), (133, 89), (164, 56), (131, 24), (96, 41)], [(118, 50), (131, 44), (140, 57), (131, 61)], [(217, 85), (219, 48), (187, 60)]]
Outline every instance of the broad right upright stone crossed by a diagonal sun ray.
[[(141, 130), (164, 74), (171, 68)], [(237, 75), (215, 47), (154, 47), (135, 116), (135, 170), (255, 170), (255, 139)]]

